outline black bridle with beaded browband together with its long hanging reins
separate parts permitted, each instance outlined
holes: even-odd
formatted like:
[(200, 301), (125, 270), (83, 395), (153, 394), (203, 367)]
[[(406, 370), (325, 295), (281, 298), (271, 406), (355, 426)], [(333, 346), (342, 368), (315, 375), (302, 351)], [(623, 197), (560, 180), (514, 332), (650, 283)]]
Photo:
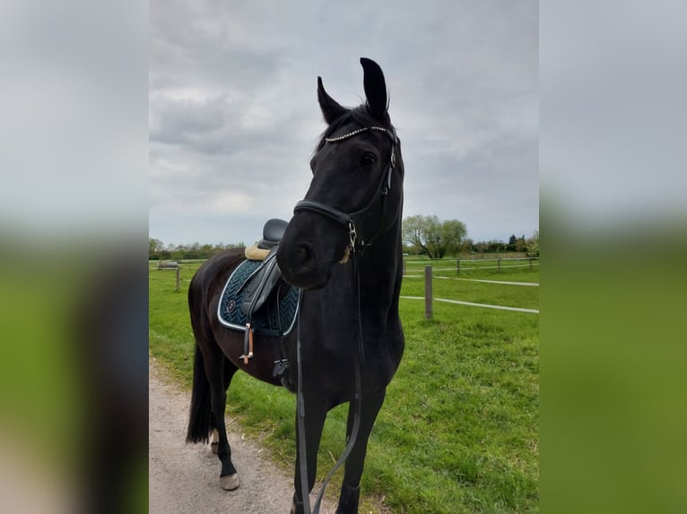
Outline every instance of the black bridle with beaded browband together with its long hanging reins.
[[(370, 126), (370, 127), (362, 127), (358, 130), (352, 131), (351, 133), (346, 133), (342, 136), (338, 136), (335, 138), (326, 138), (325, 141), (327, 143), (332, 143), (332, 142), (338, 142), (338, 141), (344, 141), (345, 139), (348, 139), (349, 137), (352, 137), (354, 135), (357, 135), (359, 133), (367, 132), (370, 130), (376, 130), (376, 131), (382, 131), (388, 135), (388, 137), (393, 141), (394, 146), (391, 148), (391, 158), (389, 160), (389, 164), (387, 166), (387, 169), (384, 174), (382, 174), (381, 178), (379, 179), (379, 183), (377, 185), (377, 188), (375, 190), (374, 195), (372, 196), (372, 199), (370, 200), (370, 203), (368, 205), (361, 209), (357, 210), (352, 213), (347, 213), (342, 210), (337, 210), (332, 207), (329, 207), (328, 205), (325, 205), (324, 203), (320, 203), (318, 201), (309, 201), (309, 200), (303, 200), (299, 201), (296, 203), (295, 208), (293, 209), (294, 214), (296, 212), (300, 211), (310, 211), (310, 212), (315, 212), (317, 214), (321, 214), (323, 216), (326, 216), (326, 218), (333, 219), (335, 222), (344, 225), (344, 227), (348, 227), (349, 229), (349, 236), (351, 238), (350, 242), (350, 247), (351, 247), (351, 259), (352, 259), (352, 265), (353, 265), (353, 279), (354, 279), (354, 298), (358, 303), (358, 333), (357, 333), (357, 338), (358, 338), (358, 355), (356, 356), (355, 359), (355, 393), (354, 393), (354, 402), (355, 402), (355, 410), (353, 412), (353, 426), (351, 430), (351, 435), (348, 438), (348, 441), (346, 443), (346, 448), (344, 449), (344, 453), (342, 453), (341, 457), (338, 458), (336, 461), (334, 467), (332, 470), (326, 475), (325, 480), (322, 483), (322, 487), (320, 488), (319, 493), (317, 494), (317, 501), (315, 501), (315, 506), (313, 510), (310, 510), (310, 496), (309, 496), (309, 481), (308, 481), (308, 460), (307, 460), (307, 448), (306, 448), (306, 437), (305, 437), (305, 400), (303, 399), (303, 373), (302, 373), (302, 364), (301, 364), (301, 359), (300, 359), (300, 312), (301, 309), (298, 310), (298, 332), (297, 332), (297, 338), (296, 338), (296, 356), (297, 356), (297, 364), (298, 364), (298, 398), (297, 398), (297, 412), (298, 412), (298, 443), (299, 443), (299, 460), (300, 460), (300, 494), (301, 494), (301, 500), (303, 501), (303, 510), (305, 511), (305, 514), (317, 514), (319, 512), (319, 507), (320, 507), (320, 502), (322, 501), (322, 497), (325, 494), (325, 489), (327, 484), (329, 484), (329, 480), (332, 478), (332, 476), (335, 474), (336, 470), (341, 467), (342, 464), (344, 464), (346, 458), (351, 454), (351, 451), (353, 449), (353, 446), (355, 445), (355, 441), (358, 438), (358, 431), (361, 426), (361, 411), (362, 411), (362, 384), (361, 384), (361, 365), (365, 363), (365, 350), (363, 347), (363, 335), (362, 335), (362, 318), (361, 318), (361, 286), (360, 286), (360, 270), (358, 269), (358, 256), (356, 255), (356, 250), (357, 253), (361, 254), (365, 248), (370, 246), (374, 241), (377, 239), (377, 237), (382, 233), (384, 229), (384, 221), (387, 215), (387, 194), (391, 189), (391, 175), (394, 167), (396, 167), (396, 143), (397, 143), (397, 138), (394, 133), (391, 133), (388, 131), (386, 128), (383, 127), (378, 127), (378, 126)], [(380, 216), (380, 222), (379, 222), (379, 228), (377, 232), (370, 237), (368, 242), (365, 242), (365, 240), (361, 237), (360, 239), (358, 238), (358, 228), (362, 225), (362, 222), (370, 217), (370, 214), (373, 214), (371, 211), (375, 208), (377, 203), (381, 203), (380, 205), (380, 211), (381, 211), (381, 216)], [(299, 304), (301, 301), (301, 293), (299, 293)]]

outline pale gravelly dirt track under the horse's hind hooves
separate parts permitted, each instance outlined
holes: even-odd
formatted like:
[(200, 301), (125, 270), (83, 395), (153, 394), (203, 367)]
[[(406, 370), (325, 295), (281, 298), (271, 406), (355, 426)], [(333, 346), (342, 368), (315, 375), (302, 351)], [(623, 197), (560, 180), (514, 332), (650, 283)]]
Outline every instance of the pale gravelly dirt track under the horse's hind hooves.
[[(260, 456), (256, 442), (241, 440), (235, 422), (227, 419), (231, 458), (241, 486), (224, 491), (219, 484), (220, 461), (208, 446), (186, 444), (190, 394), (165, 380), (149, 360), (149, 512), (208, 514), (248, 512), (286, 514), (291, 509), (293, 477)], [(323, 501), (324, 502), (324, 501)], [(324, 504), (322, 514), (334, 512)]]

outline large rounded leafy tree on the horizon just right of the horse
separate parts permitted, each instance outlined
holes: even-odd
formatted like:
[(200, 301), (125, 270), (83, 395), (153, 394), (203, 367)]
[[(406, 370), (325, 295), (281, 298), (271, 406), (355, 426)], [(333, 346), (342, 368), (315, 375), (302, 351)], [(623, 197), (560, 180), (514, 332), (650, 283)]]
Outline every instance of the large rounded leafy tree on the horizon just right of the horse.
[(441, 259), (449, 251), (457, 251), (467, 235), (465, 223), (457, 219), (440, 221), (436, 216), (410, 216), (402, 227), (404, 243), (427, 253), (430, 259)]

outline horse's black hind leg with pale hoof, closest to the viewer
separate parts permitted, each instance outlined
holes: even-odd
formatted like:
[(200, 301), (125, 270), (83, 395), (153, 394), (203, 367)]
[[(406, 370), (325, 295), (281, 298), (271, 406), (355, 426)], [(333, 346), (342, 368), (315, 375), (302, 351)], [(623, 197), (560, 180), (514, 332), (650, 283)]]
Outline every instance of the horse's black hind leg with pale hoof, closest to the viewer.
[[(217, 348), (219, 350), (219, 347)], [(217, 441), (217, 457), (222, 462), (222, 471), (220, 472), (220, 486), (222, 489), (231, 491), (239, 487), (239, 475), (236, 473), (236, 468), (231, 463), (231, 449), (229, 440), (227, 438), (227, 428), (224, 423), (224, 410), (227, 405), (226, 388), (229, 386), (231, 376), (236, 373), (236, 366), (225, 366), (225, 357), (222, 352), (218, 352), (215, 358), (205, 360), (205, 374), (210, 382), (210, 403), (213, 412), (213, 433), (211, 435), (211, 445), (214, 443), (214, 434), (219, 436)], [(226, 376), (229, 374), (229, 376)], [(214, 452), (214, 446), (213, 446)]]

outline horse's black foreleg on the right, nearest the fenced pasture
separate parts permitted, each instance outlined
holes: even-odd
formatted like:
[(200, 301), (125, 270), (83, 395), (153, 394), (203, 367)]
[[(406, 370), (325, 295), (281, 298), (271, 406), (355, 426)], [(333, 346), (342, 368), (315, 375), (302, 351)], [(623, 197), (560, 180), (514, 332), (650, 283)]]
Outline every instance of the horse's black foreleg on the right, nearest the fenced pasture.
[[(354, 514), (358, 512), (358, 502), (361, 494), (362, 467), (365, 463), (365, 454), (368, 450), (368, 440), (375, 424), (379, 409), (384, 403), (387, 390), (381, 389), (362, 398), (361, 425), (358, 429), (358, 437), (353, 444), (351, 454), (346, 458), (344, 483), (341, 485), (341, 495), (336, 514)], [(346, 436), (350, 437), (355, 422), (356, 408), (353, 404), (348, 407), (348, 425)]]

